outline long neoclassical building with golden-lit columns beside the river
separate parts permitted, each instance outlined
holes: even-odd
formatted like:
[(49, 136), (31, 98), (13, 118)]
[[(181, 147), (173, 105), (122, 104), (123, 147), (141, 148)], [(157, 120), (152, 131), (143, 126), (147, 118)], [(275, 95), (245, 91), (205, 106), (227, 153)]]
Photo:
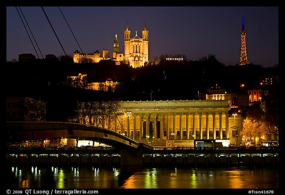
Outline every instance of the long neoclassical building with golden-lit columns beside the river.
[(240, 145), (241, 117), (229, 110), (227, 100), (123, 101), (114, 130), (154, 146)]

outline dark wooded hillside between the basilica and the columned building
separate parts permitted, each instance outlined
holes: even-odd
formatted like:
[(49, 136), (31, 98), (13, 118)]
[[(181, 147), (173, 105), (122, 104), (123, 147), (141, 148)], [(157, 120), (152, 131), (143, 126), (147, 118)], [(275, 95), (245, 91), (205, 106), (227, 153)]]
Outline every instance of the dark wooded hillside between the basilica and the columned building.
[[(87, 74), (87, 82), (119, 82), (116, 91), (93, 91), (67, 85), (68, 76)], [(75, 113), (78, 101), (107, 100), (193, 100), (218, 84), (229, 92), (258, 88), (261, 75), (278, 75), (279, 66), (223, 65), (213, 55), (199, 61), (160, 61), (132, 68), (111, 60), (75, 64), (70, 59), (6, 63), (5, 94), (31, 97), (47, 102), (47, 120), (66, 121)]]

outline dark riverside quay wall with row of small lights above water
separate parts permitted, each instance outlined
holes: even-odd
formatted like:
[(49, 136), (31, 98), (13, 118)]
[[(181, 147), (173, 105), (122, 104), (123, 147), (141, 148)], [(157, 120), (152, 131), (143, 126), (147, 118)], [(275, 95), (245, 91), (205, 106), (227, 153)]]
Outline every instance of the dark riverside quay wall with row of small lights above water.
[(278, 147), (8, 148), (8, 166), (237, 167), (279, 166)]

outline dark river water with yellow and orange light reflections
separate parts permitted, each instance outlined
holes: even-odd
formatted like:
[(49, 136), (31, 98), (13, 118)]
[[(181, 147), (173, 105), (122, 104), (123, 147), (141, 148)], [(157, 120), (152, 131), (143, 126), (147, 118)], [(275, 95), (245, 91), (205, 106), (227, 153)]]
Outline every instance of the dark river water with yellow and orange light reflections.
[(54, 189), (278, 189), (270, 168), (150, 168), (123, 174), (120, 168), (9, 167), (8, 188)]

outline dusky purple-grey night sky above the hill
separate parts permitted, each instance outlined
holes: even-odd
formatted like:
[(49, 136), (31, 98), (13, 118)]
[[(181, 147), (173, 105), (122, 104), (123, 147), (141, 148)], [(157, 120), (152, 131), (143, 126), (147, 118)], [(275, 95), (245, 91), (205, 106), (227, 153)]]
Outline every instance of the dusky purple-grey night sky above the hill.
[[(124, 30), (131, 37), (149, 31), (149, 60), (153, 56), (186, 55), (196, 61), (209, 54), (224, 65), (236, 65), (240, 57), (242, 18), (250, 63), (264, 67), (279, 64), (278, 6), (43, 6), (60, 46), (41, 6), (17, 6), (36, 39), (39, 58), (47, 54), (72, 56), (74, 51), (102, 54), (113, 52), (115, 34), (119, 52), (124, 53)], [(59, 9), (60, 8), (60, 9)], [(67, 20), (67, 23), (61, 11)], [(69, 26), (68, 26), (69, 25)], [(71, 28), (71, 30), (69, 29)], [(32, 34), (30, 34), (33, 40)], [(78, 46), (77, 42), (80, 47)], [(37, 53), (15, 6), (6, 7), (6, 60), (19, 54)], [(41, 55), (42, 53), (42, 55)]]

